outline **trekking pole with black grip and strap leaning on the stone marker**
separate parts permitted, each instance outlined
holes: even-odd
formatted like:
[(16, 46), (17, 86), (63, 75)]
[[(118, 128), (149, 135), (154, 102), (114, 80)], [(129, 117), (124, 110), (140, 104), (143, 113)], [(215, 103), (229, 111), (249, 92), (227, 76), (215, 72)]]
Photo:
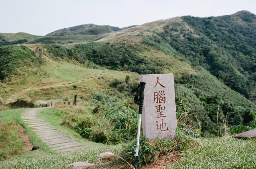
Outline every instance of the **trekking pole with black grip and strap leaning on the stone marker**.
[[(140, 85), (136, 88), (130, 91), (129, 96), (134, 94), (136, 92), (134, 97), (134, 102), (139, 101), (139, 122), (138, 122), (138, 132), (137, 132), (137, 142), (136, 142), (136, 148), (135, 148), (135, 169), (137, 169), (137, 163), (138, 163), (138, 157), (139, 157), (139, 140), (140, 140), (140, 123), (141, 123), (141, 115), (143, 110), (143, 100), (144, 100), (144, 89), (145, 89), (145, 82), (140, 82)], [(139, 91), (140, 88), (140, 91)], [(138, 99), (138, 92), (140, 93), (140, 98)]]

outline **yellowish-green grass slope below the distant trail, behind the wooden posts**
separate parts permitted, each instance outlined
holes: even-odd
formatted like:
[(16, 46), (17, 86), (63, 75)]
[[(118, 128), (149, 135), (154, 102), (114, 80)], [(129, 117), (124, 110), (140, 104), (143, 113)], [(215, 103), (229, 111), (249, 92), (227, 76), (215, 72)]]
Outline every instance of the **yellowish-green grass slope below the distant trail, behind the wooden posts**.
[[(98, 93), (106, 93), (113, 96), (120, 96), (120, 92), (113, 90), (109, 85), (111, 81), (114, 79), (124, 80), (126, 75), (129, 75), (131, 79), (134, 81), (139, 81), (137, 73), (131, 73), (126, 71), (112, 71), (106, 70), (106, 74), (95, 77), (93, 79), (89, 79), (86, 81), (82, 81), (79, 83), (74, 83), (77, 85), (75, 89), (72, 85), (65, 85), (54, 88), (40, 89), (40, 90), (30, 90), (26, 93), (27, 97), (34, 98), (35, 100), (63, 100), (68, 99), (66, 101), (73, 101), (73, 95), (78, 95), (78, 104), (81, 101), (81, 98), (84, 98), (87, 95), (90, 95), (92, 91)], [(100, 86), (100, 87), (99, 87)], [(125, 94), (127, 96), (127, 94)], [(124, 95), (120, 96), (124, 97)], [(127, 98), (125, 98), (127, 100)], [(128, 97), (128, 99), (132, 99)]]

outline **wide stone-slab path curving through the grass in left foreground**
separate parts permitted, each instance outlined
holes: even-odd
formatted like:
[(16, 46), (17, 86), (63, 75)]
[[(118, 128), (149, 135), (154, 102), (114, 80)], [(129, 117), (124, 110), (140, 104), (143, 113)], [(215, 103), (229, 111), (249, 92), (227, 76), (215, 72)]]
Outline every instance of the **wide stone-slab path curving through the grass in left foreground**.
[(38, 117), (37, 112), (40, 109), (42, 108), (28, 109), (21, 114), (21, 118), (51, 150), (56, 152), (71, 152), (89, 148), (89, 146), (73, 139), (68, 134), (55, 129), (43, 118)]

